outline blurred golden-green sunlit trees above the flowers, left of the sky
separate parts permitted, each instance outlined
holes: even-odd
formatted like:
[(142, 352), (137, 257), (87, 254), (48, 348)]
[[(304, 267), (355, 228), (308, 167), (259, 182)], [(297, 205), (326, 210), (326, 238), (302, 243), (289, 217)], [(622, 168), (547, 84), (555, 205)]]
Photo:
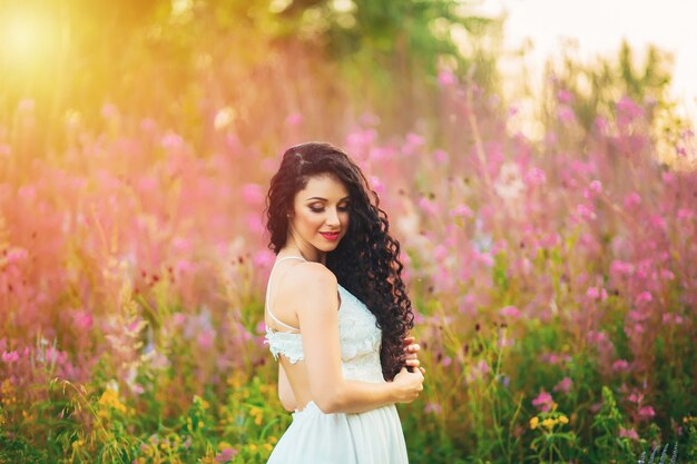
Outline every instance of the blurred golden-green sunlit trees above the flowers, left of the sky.
[(27, 36), (0, 48), (11, 70), (0, 75), (0, 120), (31, 99), (42, 147), (60, 142), (65, 124), (98, 124), (104, 105), (118, 102), (203, 151), (226, 107), (243, 141), (282, 137), (296, 112), (330, 138), (347, 109), (410, 128), (416, 110), (434, 107), (439, 63), (461, 72), (478, 63), (475, 77), (495, 82), (494, 53), (477, 43), (500, 30), (455, 0), (3, 2), (0, 26)]

